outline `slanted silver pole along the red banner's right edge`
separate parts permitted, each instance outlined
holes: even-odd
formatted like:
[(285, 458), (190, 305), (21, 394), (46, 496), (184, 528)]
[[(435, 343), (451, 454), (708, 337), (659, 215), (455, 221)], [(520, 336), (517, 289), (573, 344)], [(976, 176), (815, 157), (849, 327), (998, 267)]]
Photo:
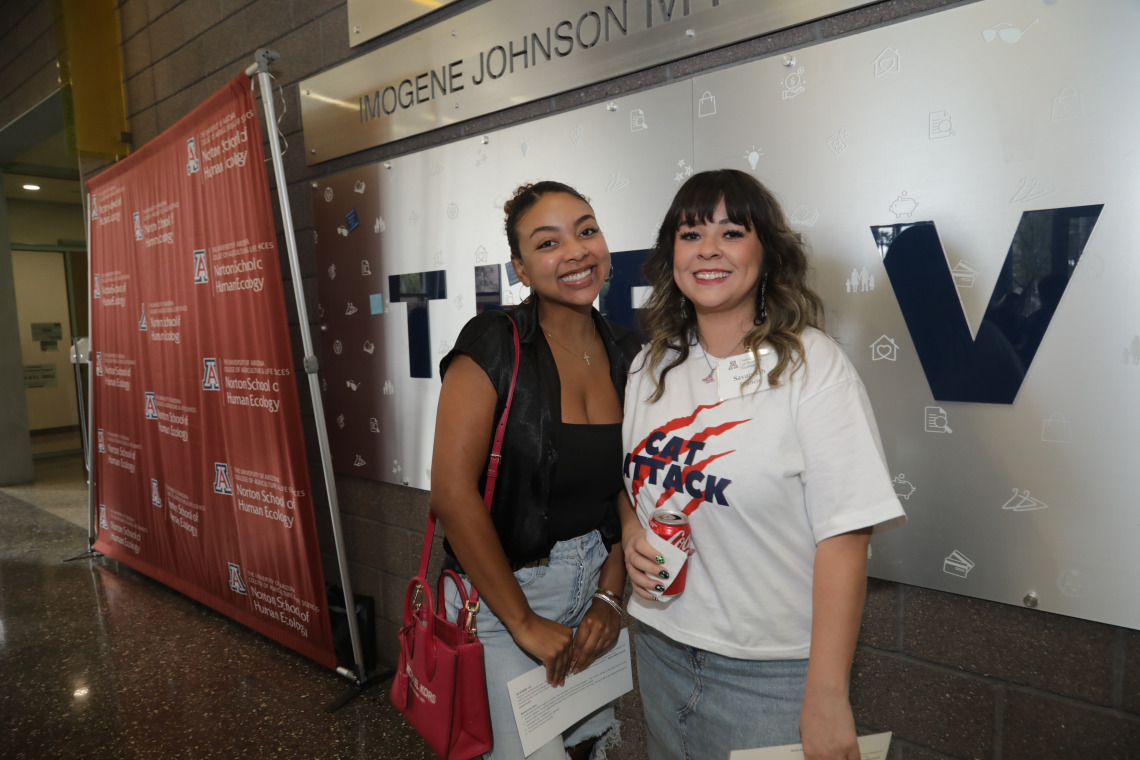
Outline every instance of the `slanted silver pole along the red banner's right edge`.
[(296, 300), (296, 313), (300, 321), (301, 344), (304, 350), (304, 371), (309, 376), (309, 394), (312, 398), (312, 414), (316, 418), (317, 441), (320, 448), (320, 466), (325, 476), (325, 493), (328, 497), (328, 512), (332, 517), (333, 540), (336, 545), (336, 563), (341, 573), (341, 588), (344, 590), (345, 608), (348, 610), (349, 636), (352, 639), (352, 659), (356, 670), (337, 667), (336, 672), (361, 686), (367, 678), (364, 671), (364, 651), (360, 646), (360, 629), (357, 626), (356, 596), (349, 580), (348, 557), (344, 550), (343, 531), (341, 530), (341, 507), (336, 498), (336, 483), (333, 480), (333, 459), (328, 449), (328, 431), (325, 426), (325, 408), (320, 398), (320, 381), (317, 378), (319, 365), (312, 352), (312, 336), (309, 333), (309, 311), (304, 304), (304, 293), (301, 289), (301, 265), (298, 261), (296, 239), (293, 230), (293, 212), (290, 209), (288, 193), (285, 183), (285, 166), (282, 161), (280, 141), (277, 132), (277, 115), (274, 108), (274, 90), (269, 77), (269, 64), (280, 58), (276, 50), (259, 48), (254, 54), (255, 63), (245, 70), (252, 79), (256, 74), (261, 85), (261, 104), (266, 112), (266, 131), (269, 136), (269, 155), (274, 164), (274, 178), (277, 182), (277, 199), (282, 211), (282, 227), (285, 232), (285, 248), (288, 253), (290, 272), (293, 276), (293, 296)]

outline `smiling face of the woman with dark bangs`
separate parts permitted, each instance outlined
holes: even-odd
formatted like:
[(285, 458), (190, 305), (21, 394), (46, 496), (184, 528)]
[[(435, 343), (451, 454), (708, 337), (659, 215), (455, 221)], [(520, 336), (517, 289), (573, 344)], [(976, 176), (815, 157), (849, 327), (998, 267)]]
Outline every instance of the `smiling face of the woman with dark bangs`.
[(728, 219), (724, 198), (712, 218), (679, 224), (673, 243), (673, 279), (697, 314), (736, 313), (751, 321), (764, 269), (755, 229)]

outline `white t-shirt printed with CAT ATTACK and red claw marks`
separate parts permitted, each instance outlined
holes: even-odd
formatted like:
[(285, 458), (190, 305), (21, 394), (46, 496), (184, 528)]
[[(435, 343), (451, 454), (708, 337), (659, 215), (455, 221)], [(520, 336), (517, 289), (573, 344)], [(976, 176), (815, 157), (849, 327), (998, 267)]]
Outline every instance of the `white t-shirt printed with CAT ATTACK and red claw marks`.
[(806, 365), (775, 387), (775, 351), (763, 348), (760, 375), (743, 391), (751, 357), (718, 363), (697, 343), (656, 403), (648, 349), (634, 360), (626, 488), (642, 524), (660, 507), (686, 510), (697, 550), (682, 594), (634, 595), (629, 611), (677, 641), (746, 660), (807, 657), (815, 545), (905, 521), (855, 368), (817, 329), (803, 343)]

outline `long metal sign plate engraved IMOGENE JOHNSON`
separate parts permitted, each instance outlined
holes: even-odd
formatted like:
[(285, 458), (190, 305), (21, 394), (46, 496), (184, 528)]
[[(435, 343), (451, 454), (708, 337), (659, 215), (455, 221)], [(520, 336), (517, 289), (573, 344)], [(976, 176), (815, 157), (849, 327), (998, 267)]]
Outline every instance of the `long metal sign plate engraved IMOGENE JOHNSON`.
[(495, 0), (301, 82), (328, 161), (829, 16), (865, 0)]

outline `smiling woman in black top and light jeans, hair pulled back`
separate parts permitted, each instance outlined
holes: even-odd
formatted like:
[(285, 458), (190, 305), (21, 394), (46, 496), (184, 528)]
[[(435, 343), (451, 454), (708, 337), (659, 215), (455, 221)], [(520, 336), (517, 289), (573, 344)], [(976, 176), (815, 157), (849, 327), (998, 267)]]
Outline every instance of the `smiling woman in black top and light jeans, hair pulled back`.
[[(475, 621), (494, 738), (486, 757), (522, 760), (507, 681), (543, 664), (547, 681), (562, 685), (618, 638), (621, 404), (640, 344), (593, 308), (610, 250), (581, 194), (561, 182), (524, 185), (504, 211), (511, 265), (531, 295), (508, 312), (519, 374), (495, 497), (488, 513), (484, 472), (515, 351), (506, 317), (484, 311), (440, 362), (430, 505), (448, 564), (483, 604)], [(458, 593), (447, 603), (454, 620)], [(606, 705), (527, 757), (598, 760), (617, 738)]]

